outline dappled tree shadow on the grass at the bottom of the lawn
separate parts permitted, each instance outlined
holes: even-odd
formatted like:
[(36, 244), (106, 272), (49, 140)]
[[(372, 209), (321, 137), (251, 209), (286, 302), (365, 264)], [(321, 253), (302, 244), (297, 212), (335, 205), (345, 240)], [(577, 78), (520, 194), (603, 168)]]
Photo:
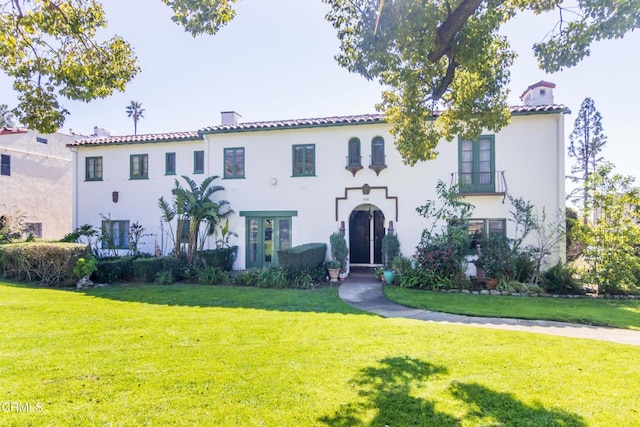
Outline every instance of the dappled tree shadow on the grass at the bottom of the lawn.
[(428, 387), (428, 380), (448, 374), (443, 366), (409, 357), (390, 357), (380, 366), (363, 369), (351, 381), (358, 388), (358, 400), (342, 405), (334, 414), (323, 416), (320, 422), (329, 426), (396, 426), (428, 425), (458, 426), (571, 426), (586, 423), (576, 414), (542, 405), (527, 405), (513, 395), (500, 393), (477, 384), (454, 382), (451, 396), (464, 404), (462, 418), (439, 412), (435, 403), (416, 397), (414, 390)]

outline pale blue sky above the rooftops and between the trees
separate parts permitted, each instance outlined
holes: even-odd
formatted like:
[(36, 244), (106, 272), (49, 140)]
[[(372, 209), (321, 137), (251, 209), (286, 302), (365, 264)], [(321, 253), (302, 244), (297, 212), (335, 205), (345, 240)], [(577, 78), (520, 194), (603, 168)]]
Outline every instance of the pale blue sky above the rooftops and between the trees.
[[(104, 8), (109, 25), (102, 36), (128, 40), (142, 72), (124, 93), (89, 104), (64, 101), (71, 114), (61, 132), (89, 135), (99, 126), (113, 135), (133, 134), (125, 111), (132, 100), (145, 109), (139, 134), (217, 125), (221, 111), (236, 111), (245, 122), (376, 112), (381, 87), (334, 60), (339, 43), (321, 0), (241, 0), (228, 26), (197, 38), (171, 22), (171, 10), (160, 0), (111, 0)], [(580, 104), (592, 98), (608, 137), (603, 156), (618, 172), (638, 176), (640, 31), (597, 42), (576, 67), (549, 75), (538, 68), (531, 47), (556, 21), (556, 14), (522, 15), (503, 28), (518, 53), (510, 104), (521, 104), (530, 84), (555, 83), (555, 102), (572, 111), (565, 121), (568, 143)], [(4, 75), (0, 103), (16, 103)], [(568, 160), (567, 171), (570, 165)]]

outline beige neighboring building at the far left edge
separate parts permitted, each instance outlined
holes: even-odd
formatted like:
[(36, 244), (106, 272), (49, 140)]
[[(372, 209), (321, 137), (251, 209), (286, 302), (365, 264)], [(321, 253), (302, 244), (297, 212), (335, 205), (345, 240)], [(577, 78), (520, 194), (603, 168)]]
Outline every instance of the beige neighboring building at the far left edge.
[(72, 231), (72, 156), (77, 137), (0, 128), (0, 220), (26, 235), (60, 239)]

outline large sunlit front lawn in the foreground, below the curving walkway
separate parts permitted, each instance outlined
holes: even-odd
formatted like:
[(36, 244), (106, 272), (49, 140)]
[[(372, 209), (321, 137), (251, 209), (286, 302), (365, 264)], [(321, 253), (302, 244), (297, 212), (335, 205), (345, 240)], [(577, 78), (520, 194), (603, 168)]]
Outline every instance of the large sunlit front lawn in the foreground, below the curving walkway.
[(335, 287), (0, 282), (0, 333), (3, 426), (640, 425), (638, 347), (385, 319)]

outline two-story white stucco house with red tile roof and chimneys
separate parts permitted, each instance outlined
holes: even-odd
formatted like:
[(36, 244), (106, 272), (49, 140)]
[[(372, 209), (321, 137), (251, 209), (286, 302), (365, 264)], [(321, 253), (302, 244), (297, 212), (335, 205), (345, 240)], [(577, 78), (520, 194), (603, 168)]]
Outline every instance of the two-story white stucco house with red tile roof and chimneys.
[[(243, 123), (235, 112), (222, 124), (198, 132), (116, 136), (69, 144), (74, 153), (74, 226), (115, 224), (122, 250), (134, 222), (148, 236), (141, 249), (163, 253), (161, 196), (170, 198), (174, 180), (188, 175), (200, 183), (220, 176), (235, 214), (235, 267), (277, 264), (277, 250), (329, 242), (344, 230), (352, 265), (381, 262), (380, 242), (393, 228), (404, 255), (414, 253), (424, 218), (415, 208), (435, 200), (438, 180), (461, 183), (475, 205), (470, 233), (512, 235), (512, 206), (505, 195), (530, 200), (547, 213), (563, 212), (564, 115), (553, 103), (554, 85), (527, 88), (513, 119), (498, 133), (477, 140), (442, 141), (438, 158), (407, 166), (394, 147), (382, 115)], [(555, 258), (564, 256), (559, 245)], [(213, 248), (213, 239), (205, 247)]]

